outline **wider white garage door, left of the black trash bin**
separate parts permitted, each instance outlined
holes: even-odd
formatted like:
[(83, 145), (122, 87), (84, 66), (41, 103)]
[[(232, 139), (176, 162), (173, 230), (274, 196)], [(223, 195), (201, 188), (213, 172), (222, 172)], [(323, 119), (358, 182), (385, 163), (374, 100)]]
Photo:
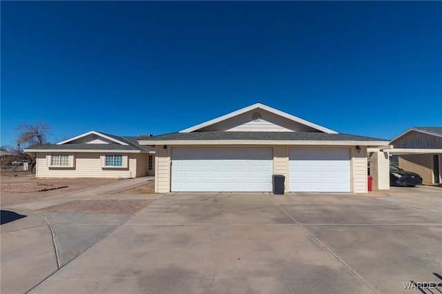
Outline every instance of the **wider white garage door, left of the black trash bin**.
[(172, 148), (171, 190), (271, 191), (271, 148)]

